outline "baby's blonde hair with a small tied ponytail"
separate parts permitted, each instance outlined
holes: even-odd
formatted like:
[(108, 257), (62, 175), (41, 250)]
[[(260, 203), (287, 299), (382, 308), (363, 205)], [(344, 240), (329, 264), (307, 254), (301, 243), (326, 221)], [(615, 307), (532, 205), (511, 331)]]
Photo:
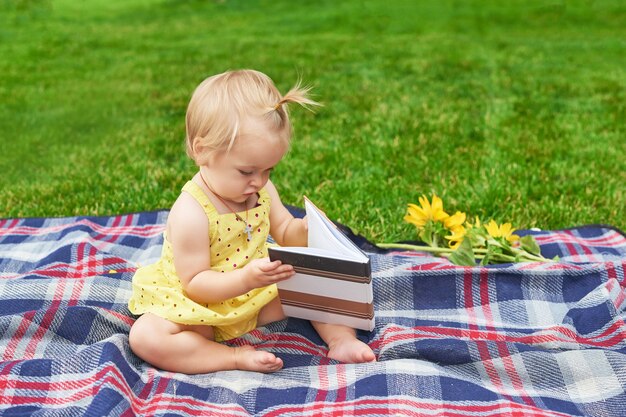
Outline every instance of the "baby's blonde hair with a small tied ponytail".
[[(282, 96), (267, 75), (254, 70), (227, 71), (207, 78), (198, 85), (187, 107), (187, 154), (201, 165), (211, 153), (228, 152), (242, 121), (249, 117), (263, 118), (288, 145), (292, 127), (286, 105), (319, 106), (308, 98), (310, 89), (298, 81)], [(201, 154), (194, 149), (195, 142)]]

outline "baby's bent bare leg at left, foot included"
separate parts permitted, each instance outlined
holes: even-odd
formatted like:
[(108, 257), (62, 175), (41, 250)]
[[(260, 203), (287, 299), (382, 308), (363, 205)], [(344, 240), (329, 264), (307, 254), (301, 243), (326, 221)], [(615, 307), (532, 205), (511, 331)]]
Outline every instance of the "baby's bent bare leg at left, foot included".
[(185, 326), (146, 313), (133, 324), (133, 352), (166, 371), (199, 374), (230, 369), (274, 372), (283, 362), (252, 346), (229, 347), (213, 340), (209, 326)]

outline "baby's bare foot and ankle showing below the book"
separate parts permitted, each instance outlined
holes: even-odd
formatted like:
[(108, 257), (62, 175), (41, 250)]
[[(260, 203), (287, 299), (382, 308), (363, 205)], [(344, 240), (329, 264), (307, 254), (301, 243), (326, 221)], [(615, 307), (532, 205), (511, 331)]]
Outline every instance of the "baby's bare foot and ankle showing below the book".
[(356, 338), (353, 328), (319, 321), (312, 321), (311, 324), (328, 345), (329, 358), (346, 363), (376, 361), (372, 349)]

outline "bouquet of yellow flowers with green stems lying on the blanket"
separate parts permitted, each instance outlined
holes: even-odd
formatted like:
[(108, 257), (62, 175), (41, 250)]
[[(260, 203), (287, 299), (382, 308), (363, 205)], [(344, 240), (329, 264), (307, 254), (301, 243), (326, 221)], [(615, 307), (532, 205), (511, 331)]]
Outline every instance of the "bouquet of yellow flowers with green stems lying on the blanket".
[(557, 260), (544, 258), (533, 236), (513, 234), (515, 229), (511, 223), (498, 224), (490, 220), (484, 224), (478, 217), (470, 223), (465, 213), (446, 213), (443, 202), (436, 195), (430, 201), (423, 195), (419, 203), (408, 205), (404, 220), (415, 225), (419, 240), (427, 246), (400, 243), (378, 246), (433, 252), (456, 265), (465, 266), (476, 266), (477, 260), (480, 265)]

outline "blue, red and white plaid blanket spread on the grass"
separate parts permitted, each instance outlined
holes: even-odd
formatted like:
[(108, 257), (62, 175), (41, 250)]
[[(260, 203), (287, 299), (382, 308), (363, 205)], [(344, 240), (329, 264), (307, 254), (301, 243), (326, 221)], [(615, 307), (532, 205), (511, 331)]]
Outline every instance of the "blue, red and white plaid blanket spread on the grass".
[[(371, 253), (378, 362), (329, 360), (298, 319), (231, 343), (275, 374), (183, 375), (129, 349), (126, 303), (158, 258), (166, 211), (0, 220), (0, 414), (626, 415), (626, 237), (532, 232), (551, 264), (456, 267)], [(527, 232), (530, 233), (530, 232)]]

